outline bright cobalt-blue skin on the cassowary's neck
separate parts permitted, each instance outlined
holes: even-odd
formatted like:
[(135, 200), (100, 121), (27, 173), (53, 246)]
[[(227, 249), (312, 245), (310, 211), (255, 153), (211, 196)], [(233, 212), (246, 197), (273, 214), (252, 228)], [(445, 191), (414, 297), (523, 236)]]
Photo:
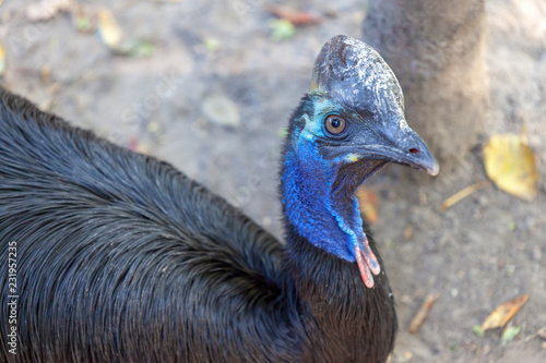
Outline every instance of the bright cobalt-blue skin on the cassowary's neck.
[(282, 174), (283, 207), (297, 233), (314, 246), (355, 262), (365, 234), (353, 191), (334, 191), (339, 166), (324, 160), (314, 143), (288, 146)]

